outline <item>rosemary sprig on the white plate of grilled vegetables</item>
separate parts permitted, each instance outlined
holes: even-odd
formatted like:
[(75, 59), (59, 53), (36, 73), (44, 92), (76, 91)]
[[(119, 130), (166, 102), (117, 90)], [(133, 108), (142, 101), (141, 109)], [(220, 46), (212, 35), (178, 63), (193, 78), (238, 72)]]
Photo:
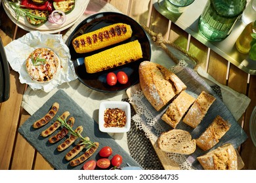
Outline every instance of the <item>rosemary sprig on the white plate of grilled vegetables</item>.
[(11, 2), (11, 1), (8, 1), (8, 3), (16, 14), (17, 22), (18, 22), (20, 16), (23, 16), (23, 17), (27, 16), (31, 20), (47, 20), (47, 17), (36, 16), (32, 12), (30, 12), (30, 9), (22, 8), (22, 7), (24, 7), (22, 5), (17, 5), (16, 3)]

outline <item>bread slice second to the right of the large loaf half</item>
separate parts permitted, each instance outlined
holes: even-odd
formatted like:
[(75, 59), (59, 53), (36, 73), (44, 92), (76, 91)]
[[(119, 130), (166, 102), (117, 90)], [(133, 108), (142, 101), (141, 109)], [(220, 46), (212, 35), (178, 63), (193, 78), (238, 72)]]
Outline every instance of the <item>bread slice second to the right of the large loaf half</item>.
[(190, 125), (190, 127), (197, 127), (214, 101), (215, 97), (213, 95), (205, 91), (201, 92), (192, 107), (188, 110), (186, 116), (184, 116), (183, 122)]

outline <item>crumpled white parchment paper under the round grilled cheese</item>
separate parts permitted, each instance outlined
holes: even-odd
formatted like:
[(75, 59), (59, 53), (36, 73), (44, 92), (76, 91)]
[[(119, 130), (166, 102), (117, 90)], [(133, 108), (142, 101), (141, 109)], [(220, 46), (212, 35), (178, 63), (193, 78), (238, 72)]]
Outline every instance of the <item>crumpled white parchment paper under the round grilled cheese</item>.
[[(32, 80), (26, 71), (26, 59), (36, 48), (49, 48), (60, 58), (60, 71), (50, 82), (41, 83)], [(28, 84), (33, 90), (50, 92), (56, 86), (77, 78), (70, 50), (62, 40), (62, 35), (43, 34), (39, 31), (32, 31), (20, 39), (7, 44), (5, 52), (12, 69), (20, 74), (20, 82)]]

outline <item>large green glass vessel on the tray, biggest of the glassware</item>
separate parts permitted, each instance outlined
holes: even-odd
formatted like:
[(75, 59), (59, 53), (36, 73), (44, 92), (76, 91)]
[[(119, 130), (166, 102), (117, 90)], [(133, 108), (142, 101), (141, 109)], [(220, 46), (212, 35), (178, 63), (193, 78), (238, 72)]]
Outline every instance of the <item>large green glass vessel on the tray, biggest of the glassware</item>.
[(221, 41), (232, 31), (246, 0), (208, 0), (199, 18), (199, 29), (210, 41)]

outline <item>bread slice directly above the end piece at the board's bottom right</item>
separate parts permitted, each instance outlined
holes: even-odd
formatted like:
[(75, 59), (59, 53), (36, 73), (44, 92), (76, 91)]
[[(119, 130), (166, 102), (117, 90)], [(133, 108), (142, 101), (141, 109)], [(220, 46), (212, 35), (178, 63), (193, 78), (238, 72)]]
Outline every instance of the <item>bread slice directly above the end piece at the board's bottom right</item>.
[(221, 137), (230, 129), (231, 124), (217, 116), (215, 120), (205, 129), (205, 131), (196, 139), (196, 144), (202, 150), (209, 150), (215, 146)]

